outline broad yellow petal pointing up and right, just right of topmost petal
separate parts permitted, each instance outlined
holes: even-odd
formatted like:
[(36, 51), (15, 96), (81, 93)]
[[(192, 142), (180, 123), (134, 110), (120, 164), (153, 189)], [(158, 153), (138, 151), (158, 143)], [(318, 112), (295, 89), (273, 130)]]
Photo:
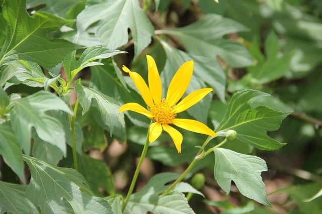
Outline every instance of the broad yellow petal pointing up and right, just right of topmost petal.
[(166, 99), (170, 105), (176, 104), (185, 93), (193, 73), (193, 61), (185, 62), (172, 78)]

